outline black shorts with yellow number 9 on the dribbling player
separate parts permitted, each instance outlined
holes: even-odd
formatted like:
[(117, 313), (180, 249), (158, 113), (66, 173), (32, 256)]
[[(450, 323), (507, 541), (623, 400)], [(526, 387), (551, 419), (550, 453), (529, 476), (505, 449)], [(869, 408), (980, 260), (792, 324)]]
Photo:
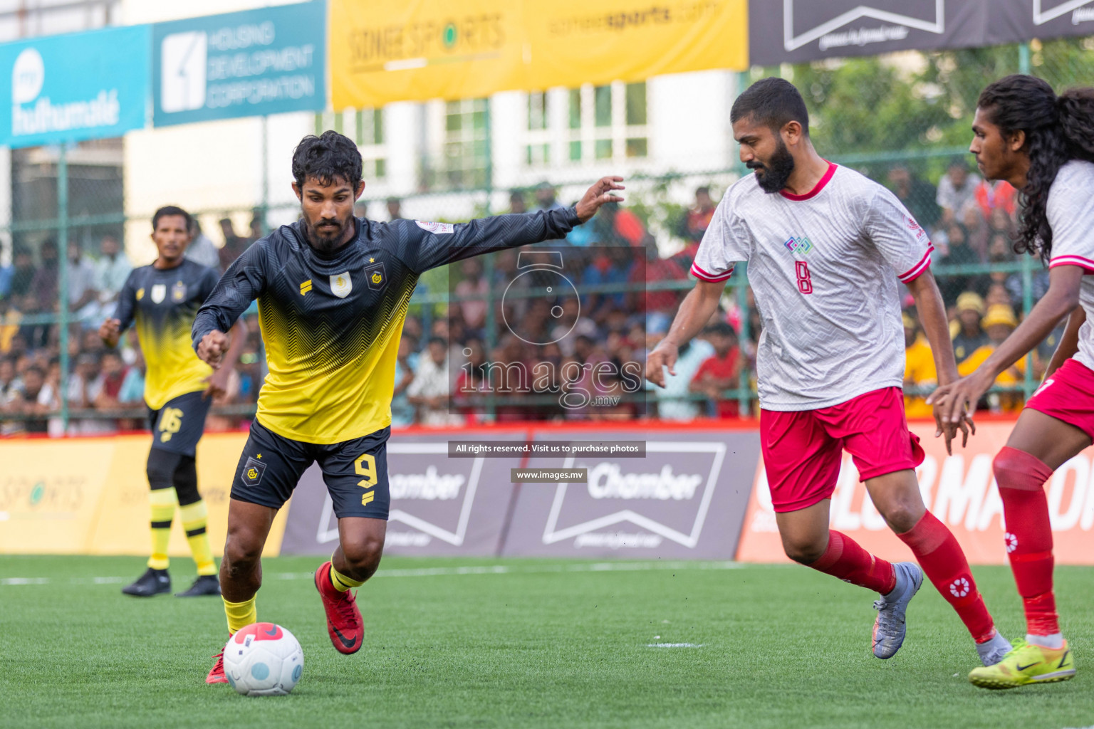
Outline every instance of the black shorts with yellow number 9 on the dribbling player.
[(274, 433), (257, 420), (240, 456), (232, 498), (281, 508), (313, 463), (334, 503), (335, 516), (387, 519), (387, 438), (392, 428), (331, 445), (302, 443)]

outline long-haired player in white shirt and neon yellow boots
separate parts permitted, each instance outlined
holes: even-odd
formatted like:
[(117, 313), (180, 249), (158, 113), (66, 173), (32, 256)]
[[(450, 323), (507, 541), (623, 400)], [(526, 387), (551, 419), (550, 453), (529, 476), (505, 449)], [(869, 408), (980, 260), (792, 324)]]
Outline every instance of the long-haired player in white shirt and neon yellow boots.
[(971, 375), (930, 401), (943, 422), (959, 418), (996, 376), (1039, 344), (1064, 316), (1068, 327), (992, 463), (1006, 520), (1006, 552), (1026, 615), (1026, 639), (968, 680), (985, 689), (1064, 681), (1074, 659), (1060, 632), (1052, 592), (1052, 529), (1045, 482), (1094, 442), (1094, 89), (1057, 96), (1047, 82), (1009, 75), (980, 94), (973, 144), (987, 179), (1022, 196), (1015, 250), (1048, 262), (1048, 292)]

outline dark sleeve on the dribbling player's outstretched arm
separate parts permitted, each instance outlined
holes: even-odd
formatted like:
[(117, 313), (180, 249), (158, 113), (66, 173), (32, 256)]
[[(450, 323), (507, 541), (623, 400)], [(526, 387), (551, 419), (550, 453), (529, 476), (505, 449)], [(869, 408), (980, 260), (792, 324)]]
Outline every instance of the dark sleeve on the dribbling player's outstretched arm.
[(407, 245), (399, 257), (410, 270), (423, 273), (480, 254), (565, 238), (580, 223), (573, 208), (479, 217), (454, 225), (401, 221), (408, 238), (404, 238)]

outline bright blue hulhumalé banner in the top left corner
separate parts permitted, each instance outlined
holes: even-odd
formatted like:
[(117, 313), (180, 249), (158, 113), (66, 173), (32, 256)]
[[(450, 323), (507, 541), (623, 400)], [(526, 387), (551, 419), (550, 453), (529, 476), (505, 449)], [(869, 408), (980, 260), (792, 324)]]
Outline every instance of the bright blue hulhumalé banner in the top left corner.
[(143, 127), (150, 50), (147, 25), (0, 46), (0, 144), (120, 137)]

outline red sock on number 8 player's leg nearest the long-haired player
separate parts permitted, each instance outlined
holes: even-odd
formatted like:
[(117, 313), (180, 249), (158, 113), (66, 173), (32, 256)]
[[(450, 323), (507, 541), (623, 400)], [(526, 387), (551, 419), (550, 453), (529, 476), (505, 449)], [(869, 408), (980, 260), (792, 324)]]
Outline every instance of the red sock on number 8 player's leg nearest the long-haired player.
[(927, 578), (957, 611), (973, 639), (977, 643), (990, 639), (996, 634), (994, 623), (953, 532), (927, 512), (915, 527), (897, 537), (911, 548)]

